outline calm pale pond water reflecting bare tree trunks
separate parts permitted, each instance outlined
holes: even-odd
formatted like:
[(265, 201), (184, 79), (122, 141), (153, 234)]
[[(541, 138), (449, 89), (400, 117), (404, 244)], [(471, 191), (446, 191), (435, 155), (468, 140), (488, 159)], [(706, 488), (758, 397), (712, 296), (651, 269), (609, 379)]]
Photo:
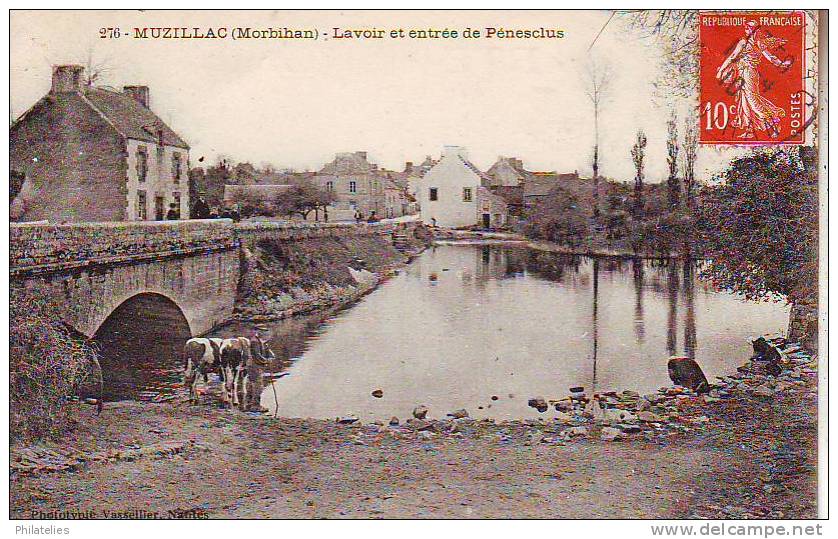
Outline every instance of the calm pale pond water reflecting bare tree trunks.
[[(670, 385), (670, 355), (708, 379), (750, 352), (747, 338), (785, 330), (788, 308), (745, 302), (681, 262), (539, 253), (519, 246), (439, 244), (349, 309), (272, 323), (287, 376), (264, 406), (285, 417), (549, 417), (527, 406), (588, 392)], [(248, 334), (231, 325), (220, 335)], [(382, 398), (371, 395), (383, 391)], [(274, 399), (274, 394), (277, 398)]]

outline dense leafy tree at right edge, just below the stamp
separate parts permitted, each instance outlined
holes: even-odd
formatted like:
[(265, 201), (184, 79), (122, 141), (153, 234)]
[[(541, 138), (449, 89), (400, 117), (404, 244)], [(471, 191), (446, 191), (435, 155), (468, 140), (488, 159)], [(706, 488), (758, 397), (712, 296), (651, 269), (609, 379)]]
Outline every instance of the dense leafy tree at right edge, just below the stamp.
[(705, 274), (749, 299), (812, 302), (818, 278), (817, 150), (737, 159), (702, 191), (697, 224)]

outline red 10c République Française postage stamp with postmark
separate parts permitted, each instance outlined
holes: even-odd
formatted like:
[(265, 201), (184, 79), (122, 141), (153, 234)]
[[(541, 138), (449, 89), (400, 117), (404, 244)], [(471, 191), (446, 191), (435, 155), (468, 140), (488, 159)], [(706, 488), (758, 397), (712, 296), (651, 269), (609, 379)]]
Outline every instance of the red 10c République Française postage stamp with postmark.
[(803, 144), (805, 15), (704, 12), (700, 142)]

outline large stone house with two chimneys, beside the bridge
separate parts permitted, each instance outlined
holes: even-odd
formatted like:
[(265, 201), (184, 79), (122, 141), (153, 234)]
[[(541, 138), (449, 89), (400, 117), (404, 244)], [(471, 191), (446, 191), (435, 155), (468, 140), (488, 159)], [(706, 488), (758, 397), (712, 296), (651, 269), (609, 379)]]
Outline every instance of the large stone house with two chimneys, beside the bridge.
[[(9, 129), (22, 177), (13, 221), (189, 217), (189, 145), (150, 109), (147, 86), (88, 86), (84, 68), (54, 66), (47, 95)], [(174, 206), (172, 206), (174, 205)]]

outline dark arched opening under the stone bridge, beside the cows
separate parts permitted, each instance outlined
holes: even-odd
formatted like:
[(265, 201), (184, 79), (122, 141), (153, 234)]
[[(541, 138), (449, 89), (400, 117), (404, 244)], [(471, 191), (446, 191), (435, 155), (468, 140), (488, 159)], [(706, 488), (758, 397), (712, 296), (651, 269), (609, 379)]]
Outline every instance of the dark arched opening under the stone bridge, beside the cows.
[(175, 300), (136, 293), (117, 305), (92, 335), (106, 400), (159, 398), (179, 384), (181, 350), (191, 325)]

